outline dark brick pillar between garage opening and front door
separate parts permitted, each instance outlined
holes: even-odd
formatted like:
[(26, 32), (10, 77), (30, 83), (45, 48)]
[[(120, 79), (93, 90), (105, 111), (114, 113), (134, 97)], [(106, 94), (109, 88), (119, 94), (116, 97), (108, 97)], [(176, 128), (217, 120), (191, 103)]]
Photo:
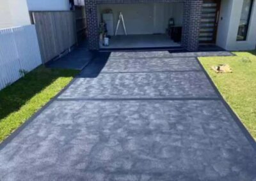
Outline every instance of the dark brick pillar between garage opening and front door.
[(189, 51), (198, 50), (203, 0), (184, 2), (182, 47)]

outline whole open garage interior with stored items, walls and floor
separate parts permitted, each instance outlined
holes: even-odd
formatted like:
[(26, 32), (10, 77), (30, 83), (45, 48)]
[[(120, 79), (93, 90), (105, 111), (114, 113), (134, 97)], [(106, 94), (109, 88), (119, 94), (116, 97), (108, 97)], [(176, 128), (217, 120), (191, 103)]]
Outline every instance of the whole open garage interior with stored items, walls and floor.
[[(180, 47), (183, 3), (99, 4), (97, 8), (100, 49)], [(120, 12), (126, 35), (122, 20), (115, 34)]]

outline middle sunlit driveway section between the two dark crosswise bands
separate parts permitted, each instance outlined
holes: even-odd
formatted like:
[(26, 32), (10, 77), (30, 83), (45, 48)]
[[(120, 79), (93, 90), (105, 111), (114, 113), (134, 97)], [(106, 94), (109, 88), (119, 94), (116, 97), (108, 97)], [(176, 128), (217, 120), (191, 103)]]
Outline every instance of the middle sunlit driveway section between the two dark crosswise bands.
[(201, 72), (111, 73), (77, 78), (59, 98), (217, 98)]

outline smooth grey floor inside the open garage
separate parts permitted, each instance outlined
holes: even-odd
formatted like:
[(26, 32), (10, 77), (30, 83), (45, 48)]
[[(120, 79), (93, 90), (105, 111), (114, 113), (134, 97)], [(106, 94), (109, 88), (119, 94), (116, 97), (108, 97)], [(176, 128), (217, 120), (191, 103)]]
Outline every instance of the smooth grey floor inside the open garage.
[(134, 34), (111, 36), (109, 46), (100, 48), (161, 48), (180, 47), (180, 43), (175, 43), (166, 34)]

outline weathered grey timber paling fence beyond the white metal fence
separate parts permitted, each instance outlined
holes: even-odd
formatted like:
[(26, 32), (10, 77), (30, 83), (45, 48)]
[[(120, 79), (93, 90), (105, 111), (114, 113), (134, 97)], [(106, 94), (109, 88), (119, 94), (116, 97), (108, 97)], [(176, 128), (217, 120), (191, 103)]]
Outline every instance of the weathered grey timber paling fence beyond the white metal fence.
[(74, 11), (31, 11), (36, 26), (42, 61), (48, 62), (76, 44)]

